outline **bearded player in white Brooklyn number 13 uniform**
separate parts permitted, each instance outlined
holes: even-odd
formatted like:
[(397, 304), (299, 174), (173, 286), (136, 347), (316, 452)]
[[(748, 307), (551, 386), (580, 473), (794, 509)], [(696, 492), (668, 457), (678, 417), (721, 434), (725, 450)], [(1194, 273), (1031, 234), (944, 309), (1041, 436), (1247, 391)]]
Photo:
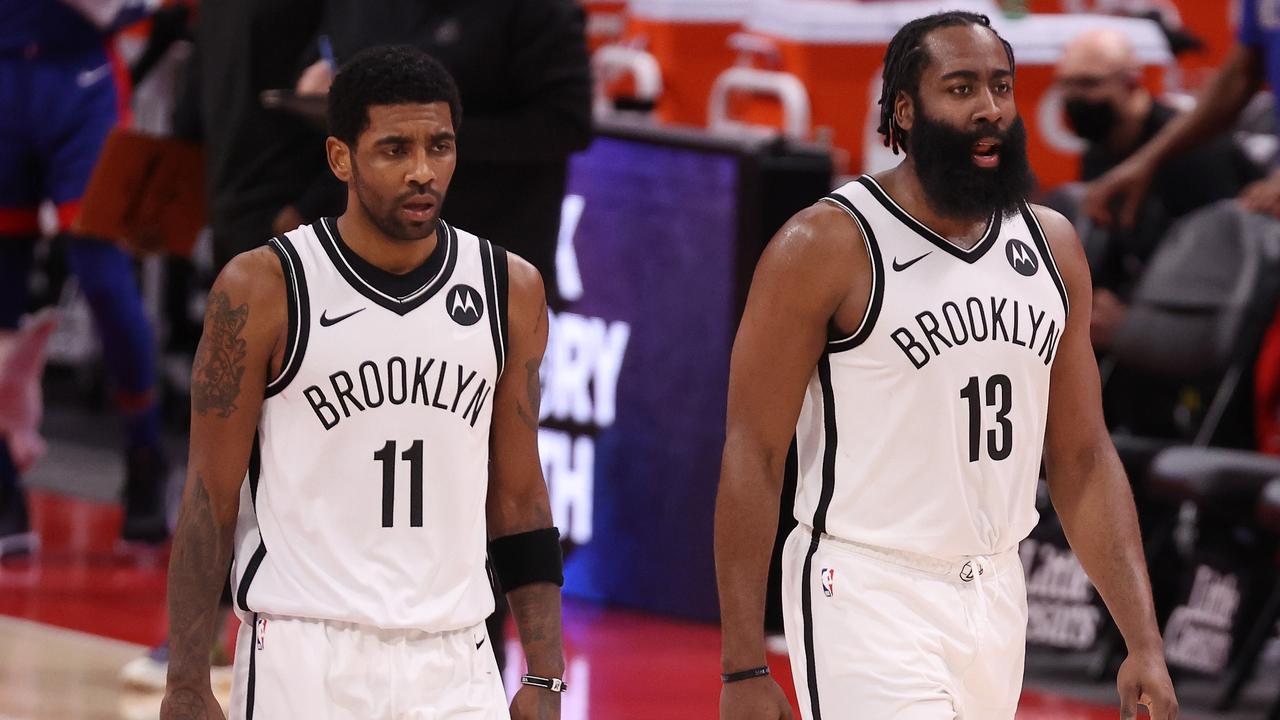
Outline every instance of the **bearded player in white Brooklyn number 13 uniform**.
[(1025, 200), (1014, 77), (986, 17), (908, 23), (886, 53), (879, 128), (906, 158), (799, 213), (756, 266), (716, 510), (722, 720), (791, 716), (762, 633), (788, 455), (800, 525), (782, 597), (801, 715), (1014, 717), (1016, 551), (1037, 521), (1042, 450), (1129, 647), (1121, 716), (1178, 715), (1102, 421), (1088, 268), (1066, 219)]

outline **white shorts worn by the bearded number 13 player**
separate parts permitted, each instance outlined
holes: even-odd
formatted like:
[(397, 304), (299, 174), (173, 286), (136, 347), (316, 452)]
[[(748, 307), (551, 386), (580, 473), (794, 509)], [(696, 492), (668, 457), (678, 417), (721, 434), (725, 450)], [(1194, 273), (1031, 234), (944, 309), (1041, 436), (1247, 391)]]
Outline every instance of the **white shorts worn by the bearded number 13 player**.
[(1012, 720), (1027, 652), (1016, 551), (941, 560), (801, 524), (782, 607), (805, 720)]

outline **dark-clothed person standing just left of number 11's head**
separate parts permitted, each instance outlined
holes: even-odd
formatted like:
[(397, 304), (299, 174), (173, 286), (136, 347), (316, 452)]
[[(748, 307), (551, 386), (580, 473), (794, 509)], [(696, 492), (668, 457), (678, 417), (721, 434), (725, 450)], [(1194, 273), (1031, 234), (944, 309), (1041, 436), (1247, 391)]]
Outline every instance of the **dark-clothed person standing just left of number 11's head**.
[[(214, 264), (321, 215), (344, 188), (329, 177), (325, 135), (300, 115), (262, 108), (264, 90), (293, 87), (314, 47), (323, 0), (204, 3), (186, 97), (205, 140)], [(192, 113), (179, 115), (192, 117)]]

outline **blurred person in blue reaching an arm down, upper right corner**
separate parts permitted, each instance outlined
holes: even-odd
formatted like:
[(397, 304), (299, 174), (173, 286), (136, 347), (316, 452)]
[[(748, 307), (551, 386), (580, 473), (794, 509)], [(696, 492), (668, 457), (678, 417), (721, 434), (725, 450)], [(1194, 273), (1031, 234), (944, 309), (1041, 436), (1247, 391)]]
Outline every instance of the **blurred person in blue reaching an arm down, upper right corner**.
[[(1280, 87), (1280, 22), (1274, 8), (1263, 0), (1240, 0), (1239, 18), (1239, 41), (1196, 109), (1170, 120), (1129, 159), (1091, 183), (1084, 209), (1097, 223), (1133, 227), (1140, 201), (1165, 161), (1226, 131), (1265, 81)], [(1280, 217), (1280, 172), (1251, 183), (1239, 197), (1251, 210)]]

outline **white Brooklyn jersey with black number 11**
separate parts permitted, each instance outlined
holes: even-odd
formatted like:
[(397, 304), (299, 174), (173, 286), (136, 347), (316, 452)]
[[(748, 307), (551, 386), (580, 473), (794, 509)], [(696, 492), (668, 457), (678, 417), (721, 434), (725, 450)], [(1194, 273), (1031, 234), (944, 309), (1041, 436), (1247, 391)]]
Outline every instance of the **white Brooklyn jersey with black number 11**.
[(241, 492), (241, 614), (445, 632), (493, 610), (489, 420), (506, 356), (507, 259), (439, 223), (407, 275), (332, 219), (270, 246), (289, 333)]

